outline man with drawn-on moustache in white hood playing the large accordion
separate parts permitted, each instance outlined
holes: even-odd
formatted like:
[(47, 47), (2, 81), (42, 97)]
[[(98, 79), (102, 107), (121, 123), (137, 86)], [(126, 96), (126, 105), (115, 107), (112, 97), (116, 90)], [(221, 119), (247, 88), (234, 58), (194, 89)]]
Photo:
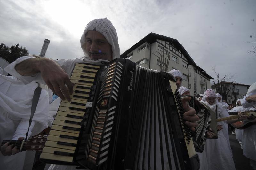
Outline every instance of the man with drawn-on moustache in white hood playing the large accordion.
[[(19, 78), (25, 84), (31, 81), (47, 84), (54, 94), (58, 95), (62, 100), (67, 99), (70, 101), (73, 85), (69, 77), (76, 63), (83, 62), (100, 65), (120, 57), (116, 29), (107, 18), (95, 19), (89, 22), (84, 29), (80, 43), (85, 55), (80, 59), (55, 61), (49, 58), (24, 56), (7, 66), (5, 71)], [(184, 113), (184, 115), (187, 114), (184, 119), (187, 120), (185, 123), (194, 130), (194, 127), (198, 126), (196, 121), (199, 120), (199, 117), (196, 116), (195, 109), (188, 106), (186, 102), (188, 98), (183, 100), (185, 102), (182, 102), (187, 111)], [(76, 166), (61, 165), (51, 165), (49, 167), (49, 169), (75, 168)]]

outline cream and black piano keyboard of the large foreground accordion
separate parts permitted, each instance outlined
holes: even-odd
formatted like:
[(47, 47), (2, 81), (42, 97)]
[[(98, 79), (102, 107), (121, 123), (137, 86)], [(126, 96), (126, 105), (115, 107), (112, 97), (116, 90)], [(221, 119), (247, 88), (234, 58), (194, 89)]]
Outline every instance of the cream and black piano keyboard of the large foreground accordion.
[[(79, 138), (86, 126), (88, 110), (86, 103), (93, 100), (96, 73), (100, 66), (77, 63), (70, 81), (74, 83), (71, 101), (62, 100), (47, 137), (40, 159), (44, 162), (73, 164), (79, 152)], [(80, 142), (81, 143), (81, 142)], [(57, 162), (56, 162), (57, 161)]]

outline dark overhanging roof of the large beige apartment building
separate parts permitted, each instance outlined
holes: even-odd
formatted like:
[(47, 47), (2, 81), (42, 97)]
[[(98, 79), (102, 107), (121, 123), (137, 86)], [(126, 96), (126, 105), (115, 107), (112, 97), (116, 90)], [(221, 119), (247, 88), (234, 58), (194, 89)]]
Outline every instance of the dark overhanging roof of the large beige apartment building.
[(159, 35), (156, 33), (149, 33), (147, 36), (145, 36), (144, 38), (142, 38), (138, 43), (134, 44), (131, 48), (129, 48), (128, 50), (126, 50), (123, 54), (121, 54), (121, 58), (127, 58), (127, 55), (137, 49), (141, 44), (147, 42), (147, 43), (154, 43), (156, 42), (156, 40), (163, 40), (163, 41), (167, 41), (167, 42), (172, 42), (180, 51), (181, 53), (184, 55), (184, 57), (187, 58), (188, 60), (188, 65), (193, 65), (195, 66), (198, 70), (201, 71), (202, 74), (204, 74), (206, 77), (213, 79), (210, 75), (208, 75), (207, 73), (204, 72), (204, 70), (197, 66), (196, 63), (194, 62), (194, 60), (190, 57), (190, 55), (188, 54), (188, 52), (185, 50), (185, 48), (179, 43), (178, 40), (164, 36), (164, 35)]

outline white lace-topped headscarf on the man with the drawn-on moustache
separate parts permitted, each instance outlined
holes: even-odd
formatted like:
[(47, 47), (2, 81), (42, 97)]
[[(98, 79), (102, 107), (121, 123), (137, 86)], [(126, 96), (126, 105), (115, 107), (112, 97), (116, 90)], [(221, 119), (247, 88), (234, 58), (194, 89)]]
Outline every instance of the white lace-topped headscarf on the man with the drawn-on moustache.
[(90, 31), (90, 30), (95, 30), (99, 33), (101, 33), (108, 43), (111, 45), (112, 49), (112, 59), (115, 58), (120, 58), (120, 49), (119, 49), (119, 44), (118, 44), (118, 38), (117, 38), (117, 33), (115, 27), (112, 25), (110, 20), (107, 18), (100, 18), (100, 19), (94, 19), (90, 21), (87, 26), (84, 28), (84, 32), (82, 34), (80, 43), (81, 47), (84, 51), (84, 57), (81, 59), (90, 59), (89, 54), (87, 53), (84, 44), (85, 44), (85, 34)]

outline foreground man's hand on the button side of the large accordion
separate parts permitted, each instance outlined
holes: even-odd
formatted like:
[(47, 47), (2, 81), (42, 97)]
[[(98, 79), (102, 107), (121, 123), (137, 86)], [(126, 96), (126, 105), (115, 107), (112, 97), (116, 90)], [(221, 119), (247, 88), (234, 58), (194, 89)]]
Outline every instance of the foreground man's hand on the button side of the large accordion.
[(188, 96), (181, 99), (183, 108), (186, 111), (183, 114), (183, 118), (184, 120), (186, 120), (185, 124), (189, 126), (192, 131), (195, 131), (195, 127), (198, 126), (198, 123), (196, 121), (199, 120), (199, 117), (196, 115), (196, 110), (188, 105), (187, 101), (189, 100), (191, 100), (191, 97)]

